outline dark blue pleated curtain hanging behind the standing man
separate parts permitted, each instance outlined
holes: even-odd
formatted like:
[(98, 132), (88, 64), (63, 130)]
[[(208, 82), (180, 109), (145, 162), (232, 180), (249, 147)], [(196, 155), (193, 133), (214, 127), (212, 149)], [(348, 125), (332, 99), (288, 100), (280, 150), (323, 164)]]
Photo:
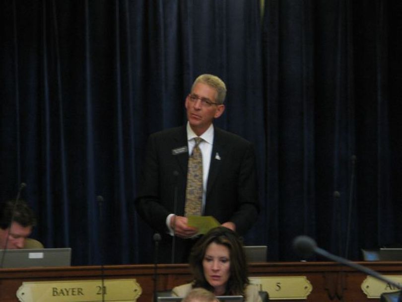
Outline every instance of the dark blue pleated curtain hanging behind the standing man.
[(211, 73), (228, 86), (216, 124), (256, 146), (247, 244), (295, 260), (299, 234), (351, 259), (402, 243), (402, 4), (374, 3), (1, 1), (1, 200), (25, 182), (33, 236), (74, 265), (152, 261), (133, 205), (145, 142), (186, 122)]

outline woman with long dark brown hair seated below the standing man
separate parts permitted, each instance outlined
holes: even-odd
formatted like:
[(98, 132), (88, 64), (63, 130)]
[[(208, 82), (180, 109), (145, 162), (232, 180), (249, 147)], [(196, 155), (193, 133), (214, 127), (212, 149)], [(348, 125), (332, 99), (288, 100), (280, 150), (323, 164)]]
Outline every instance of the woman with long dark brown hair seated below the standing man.
[(175, 287), (172, 296), (184, 297), (201, 287), (215, 296), (242, 295), (245, 302), (262, 302), (259, 287), (249, 282), (243, 243), (231, 229), (215, 227), (201, 237), (189, 263), (194, 281)]

